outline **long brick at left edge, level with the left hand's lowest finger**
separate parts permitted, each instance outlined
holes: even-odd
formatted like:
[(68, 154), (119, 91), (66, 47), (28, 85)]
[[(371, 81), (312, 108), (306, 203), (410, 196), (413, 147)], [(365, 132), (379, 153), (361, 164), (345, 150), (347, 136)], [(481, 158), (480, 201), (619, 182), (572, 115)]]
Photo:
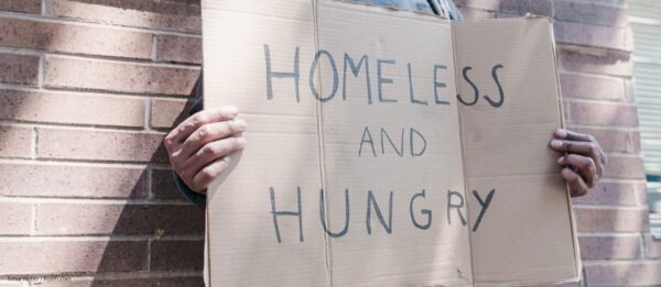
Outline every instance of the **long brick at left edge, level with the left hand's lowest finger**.
[(11, 197), (148, 198), (139, 167), (0, 164), (0, 195)]

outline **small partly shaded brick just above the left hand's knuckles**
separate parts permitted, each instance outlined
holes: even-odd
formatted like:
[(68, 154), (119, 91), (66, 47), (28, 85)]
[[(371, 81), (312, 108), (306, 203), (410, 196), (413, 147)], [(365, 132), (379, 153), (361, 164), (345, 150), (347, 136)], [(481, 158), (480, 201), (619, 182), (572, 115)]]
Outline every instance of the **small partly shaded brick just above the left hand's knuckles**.
[(193, 102), (181, 100), (152, 100), (151, 126), (171, 129), (188, 118), (188, 109)]

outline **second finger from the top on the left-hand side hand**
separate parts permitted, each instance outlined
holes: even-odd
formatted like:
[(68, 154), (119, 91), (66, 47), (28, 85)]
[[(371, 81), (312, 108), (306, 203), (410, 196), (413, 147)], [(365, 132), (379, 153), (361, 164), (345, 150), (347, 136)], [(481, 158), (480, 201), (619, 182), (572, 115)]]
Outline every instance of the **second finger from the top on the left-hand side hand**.
[(246, 130), (246, 126), (243, 120), (230, 120), (205, 124), (193, 132), (193, 134), (184, 141), (180, 153), (184, 158), (188, 158), (204, 145), (241, 133)]

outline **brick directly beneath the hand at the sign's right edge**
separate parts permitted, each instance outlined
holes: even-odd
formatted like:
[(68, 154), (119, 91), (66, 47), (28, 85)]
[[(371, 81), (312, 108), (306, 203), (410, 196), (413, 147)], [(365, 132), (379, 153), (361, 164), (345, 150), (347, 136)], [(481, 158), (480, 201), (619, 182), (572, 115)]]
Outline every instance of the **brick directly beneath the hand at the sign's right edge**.
[(644, 188), (630, 183), (600, 183), (586, 196), (574, 198), (573, 201), (576, 205), (636, 207), (638, 206), (637, 188), (644, 190)]

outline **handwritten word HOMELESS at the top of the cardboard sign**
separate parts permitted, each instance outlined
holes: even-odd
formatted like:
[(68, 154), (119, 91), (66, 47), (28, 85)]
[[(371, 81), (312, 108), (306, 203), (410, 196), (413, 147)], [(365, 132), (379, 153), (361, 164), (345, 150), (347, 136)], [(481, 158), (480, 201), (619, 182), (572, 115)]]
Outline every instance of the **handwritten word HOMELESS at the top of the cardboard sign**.
[[(294, 80), (294, 90), (295, 90), (295, 96), (296, 96), (296, 102), (301, 102), (301, 87), (300, 87), (300, 79), (301, 79), (301, 65), (300, 65), (300, 47), (296, 47), (295, 52), (294, 52), (294, 67), (292, 71), (274, 71), (273, 67), (272, 67), (272, 63), (271, 63), (271, 48), (268, 44), (264, 44), (264, 59), (266, 59), (266, 77), (267, 77), (267, 99), (268, 100), (273, 100), (273, 79), (293, 79)], [(330, 85), (330, 89), (327, 91), (321, 91), (317, 88), (317, 85), (315, 85), (315, 78), (318, 77), (318, 67), (319, 67), (319, 63), (322, 60), (325, 60), (325, 63), (327, 63), (327, 66), (330, 68), (332, 73), (330, 75), (333, 76), (333, 84)], [(373, 65), (373, 64), (372, 64)], [(358, 59), (358, 62), (356, 62), (356, 59), (354, 57), (351, 57), (349, 54), (344, 53), (344, 57), (343, 57), (343, 66), (342, 66), (342, 81), (339, 79), (340, 73), (338, 71), (338, 65), (335, 62), (335, 57), (333, 56), (333, 54), (330, 54), (330, 52), (326, 51), (326, 49), (318, 49), (315, 55), (314, 55), (314, 59), (312, 62), (312, 65), (310, 67), (310, 76), (308, 76), (308, 85), (310, 85), (310, 90), (313, 95), (313, 97), (318, 100), (319, 102), (328, 102), (330, 100), (333, 100), (336, 95), (339, 91), (339, 86), (342, 85), (342, 98), (343, 100), (347, 99), (347, 71), (350, 70), (350, 74), (355, 77), (358, 78), (361, 76), (361, 74), (365, 75), (365, 82), (366, 82), (366, 92), (367, 92), (367, 103), (368, 104), (372, 104), (375, 102), (375, 99), (372, 99), (372, 90), (371, 90), (371, 77), (373, 75), (370, 75), (370, 60), (369, 60), (369, 56), (368, 55), (361, 55)], [(376, 66), (377, 66), (377, 98), (378, 98), (378, 102), (381, 103), (397, 103), (399, 102), (398, 99), (392, 98), (392, 96), (388, 96), (386, 95), (386, 86), (387, 85), (392, 85), (394, 84), (394, 79), (393, 78), (389, 78), (384, 76), (384, 69), (387, 68), (393, 68), (397, 66), (397, 60), (395, 59), (383, 59), (383, 58), (377, 58), (376, 59)], [(408, 85), (409, 85), (409, 101), (412, 104), (423, 104), (423, 106), (430, 106), (430, 102), (432, 104), (442, 104), (442, 106), (448, 106), (449, 104), (449, 100), (448, 99), (443, 99), (440, 89), (446, 88), (447, 84), (440, 81), (438, 80), (438, 73), (447, 73), (447, 66), (445, 65), (432, 65), (433, 67), (433, 80), (432, 80), (432, 85), (434, 88), (434, 97), (433, 100), (430, 99), (422, 99), (422, 98), (418, 98), (415, 96), (414, 92), (414, 85), (413, 85), (413, 68), (411, 63), (407, 63), (407, 73), (408, 73)], [(373, 70), (373, 66), (372, 70)], [(498, 70), (502, 69), (503, 66), (501, 64), (497, 64), (491, 68), (491, 78), (494, 79), (496, 86), (498, 87), (498, 91), (499, 91), (499, 97), (497, 99), (491, 98), (488, 95), (484, 95), (483, 98), (491, 106), (495, 108), (500, 108), (503, 102), (505, 102), (505, 91), (502, 88), (502, 85), (498, 78)], [(479, 92), (479, 87), (476, 85), (475, 80), (473, 80), (469, 75), (468, 71), (473, 70), (473, 67), (470, 66), (466, 66), (463, 68), (463, 79), (468, 82), (468, 85), (470, 85), (470, 87), (473, 88), (474, 91), (474, 97), (473, 99), (465, 99), (462, 95), (457, 95), (457, 100), (465, 104), (465, 106), (474, 106), (478, 102), (478, 100), (480, 99), (480, 92)], [(362, 73), (365, 71), (365, 73)], [(372, 71), (373, 73), (373, 71)], [(451, 71), (452, 73), (452, 71)]]

